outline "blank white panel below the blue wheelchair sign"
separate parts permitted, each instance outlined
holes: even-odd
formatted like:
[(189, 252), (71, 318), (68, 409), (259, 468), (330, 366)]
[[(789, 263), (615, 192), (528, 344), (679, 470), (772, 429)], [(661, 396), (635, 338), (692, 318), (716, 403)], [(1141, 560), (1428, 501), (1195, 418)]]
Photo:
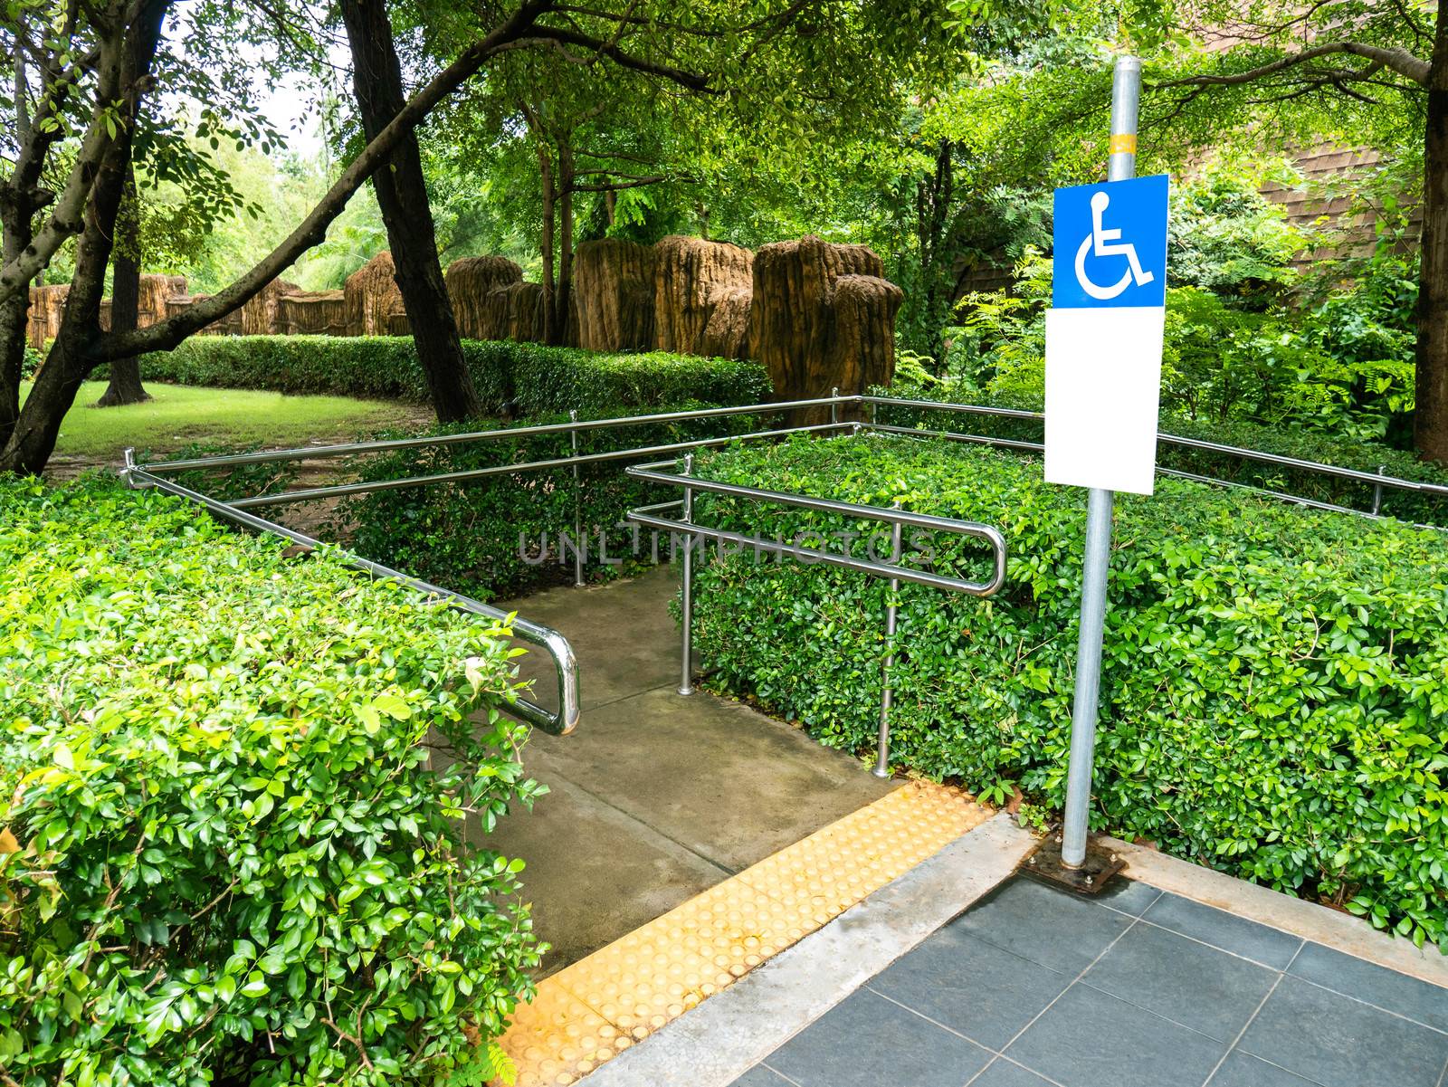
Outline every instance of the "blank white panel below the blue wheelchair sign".
[(1045, 313), (1045, 482), (1150, 495), (1166, 310)]

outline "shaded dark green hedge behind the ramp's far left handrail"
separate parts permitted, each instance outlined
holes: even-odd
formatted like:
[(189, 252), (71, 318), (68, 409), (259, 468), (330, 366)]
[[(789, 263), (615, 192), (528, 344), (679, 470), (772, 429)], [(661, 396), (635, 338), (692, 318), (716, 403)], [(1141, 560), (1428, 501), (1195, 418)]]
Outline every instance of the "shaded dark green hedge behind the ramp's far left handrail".
[[(698, 407), (702, 405), (683, 404), (679, 410)], [(543, 415), (530, 420), (529, 426), (566, 420), (566, 415)], [(579, 434), (579, 453), (743, 434), (759, 426), (750, 415), (734, 415), (585, 431)], [(437, 427), (432, 433), (465, 433), (468, 428), (466, 424)], [(568, 434), (405, 449), (361, 462), (358, 478), (376, 481), (465, 472), (568, 457), (571, 452)], [(633, 463), (649, 459), (633, 457)], [(349, 533), (350, 546), (368, 559), (488, 599), (572, 578), (578, 549), (576, 496), (576, 518), (586, 540), (585, 576), (608, 578), (653, 557), (652, 544), (621, 527), (628, 509), (679, 496), (630, 479), (623, 470), (626, 463), (584, 465), (578, 483), (572, 468), (559, 468), (356, 495), (337, 507), (332, 531)], [(604, 550), (599, 550), (601, 540)], [(668, 547), (665, 541), (662, 549)], [(620, 560), (623, 567), (613, 564)]]

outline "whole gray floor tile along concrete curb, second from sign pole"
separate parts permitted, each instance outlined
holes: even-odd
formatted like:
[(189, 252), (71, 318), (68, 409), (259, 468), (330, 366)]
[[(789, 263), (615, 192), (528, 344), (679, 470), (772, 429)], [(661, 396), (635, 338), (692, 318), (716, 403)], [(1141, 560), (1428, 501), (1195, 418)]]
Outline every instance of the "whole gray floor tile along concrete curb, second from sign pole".
[(976, 939), (937, 932), (870, 981), (870, 989), (999, 1049), (1072, 978)]

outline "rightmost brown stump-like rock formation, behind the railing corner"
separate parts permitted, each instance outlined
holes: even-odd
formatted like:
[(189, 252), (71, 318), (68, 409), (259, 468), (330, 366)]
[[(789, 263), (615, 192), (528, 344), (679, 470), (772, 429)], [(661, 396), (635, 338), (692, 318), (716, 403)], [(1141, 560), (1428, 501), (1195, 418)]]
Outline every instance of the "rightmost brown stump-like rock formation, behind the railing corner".
[[(901, 289), (866, 246), (807, 236), (754, 255), (750, 355), (769, 369), (779, 399), (862, 392), (895, 373)], [(843, 292), (841, 292), (843, 287)], [(817, 421), (824, 411), (807, 413)]]

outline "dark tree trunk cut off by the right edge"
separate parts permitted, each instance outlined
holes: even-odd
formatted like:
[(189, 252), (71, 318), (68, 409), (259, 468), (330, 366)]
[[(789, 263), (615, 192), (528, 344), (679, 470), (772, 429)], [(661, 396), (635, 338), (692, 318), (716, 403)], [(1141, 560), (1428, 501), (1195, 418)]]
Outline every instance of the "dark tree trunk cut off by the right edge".
[(1448, 465), (1448, 3), (1438, 4), (1423, 151), (1413, 443), (1425, 459)]

